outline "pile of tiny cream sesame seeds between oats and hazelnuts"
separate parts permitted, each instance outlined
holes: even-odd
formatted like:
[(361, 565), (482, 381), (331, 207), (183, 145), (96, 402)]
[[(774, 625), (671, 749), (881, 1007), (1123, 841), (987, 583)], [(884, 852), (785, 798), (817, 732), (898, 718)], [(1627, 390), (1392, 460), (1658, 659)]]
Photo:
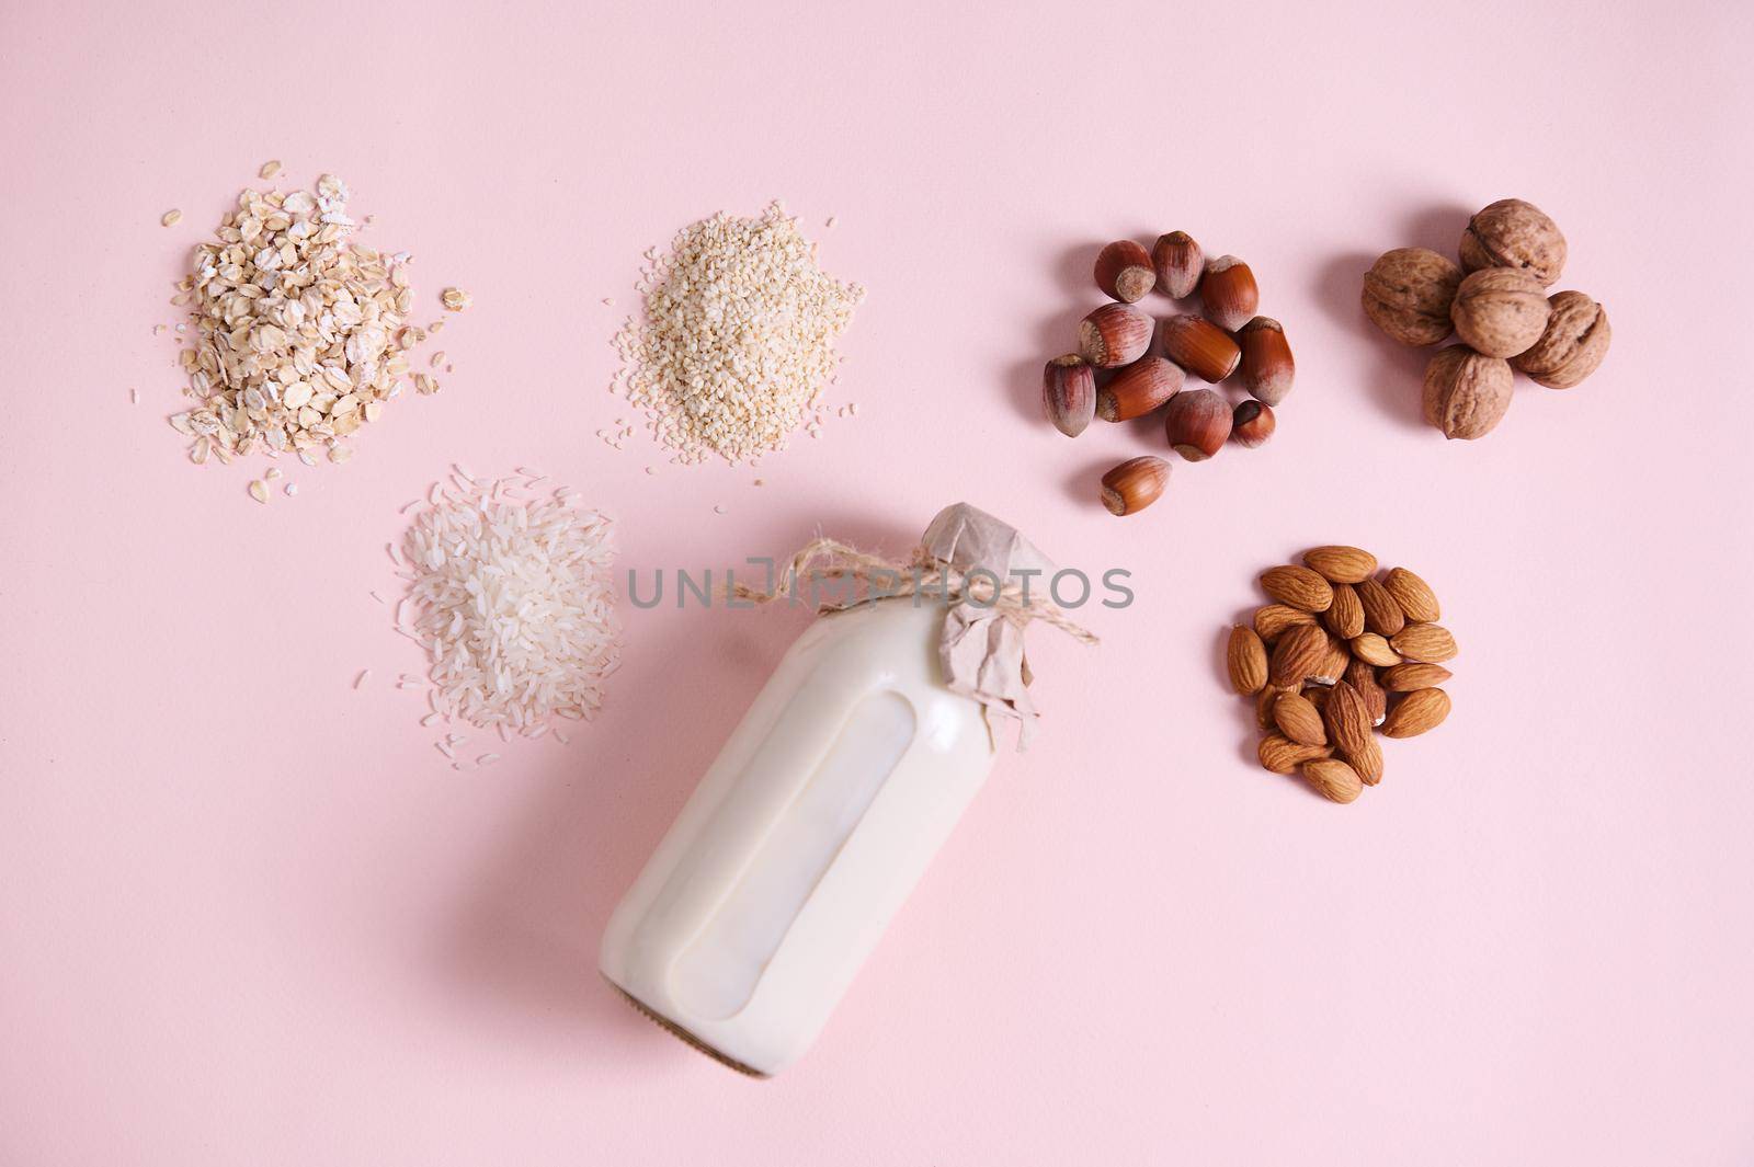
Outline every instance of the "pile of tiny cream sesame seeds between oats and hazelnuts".
[[(719, 212), (645, 259), (645, 314), (614, 338), (623, 368), (610, 393), (645, 410), (670, 461), (737, 464), (786, 449), (800, 426), (817, 435), (835, 340), (865, 289), (816, 265), (798, 221), (777, 202), (756, 219)], [(617, 419), (598, 436), (619, 447), (631, 433)]]

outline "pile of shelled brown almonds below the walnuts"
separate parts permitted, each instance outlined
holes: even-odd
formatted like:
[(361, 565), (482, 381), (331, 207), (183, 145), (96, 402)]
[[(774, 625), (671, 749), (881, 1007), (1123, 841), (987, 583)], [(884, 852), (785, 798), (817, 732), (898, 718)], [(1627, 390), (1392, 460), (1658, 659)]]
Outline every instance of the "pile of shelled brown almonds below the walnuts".
[(1230, 631), (1230, 683), (1256, 697), (1261, 766), (1303, 773), (1317, 792), (1351, 803), (1382, 782), (1372, 736), (1412, 738), (1449, 717), (1456, 638), (1437, 624), (1437, 594), (1407, 568), (1377, 578), (1358, 547), (1317, 547), (1303, 566), (1270, 568), (1273, 603), (1254, 627)]

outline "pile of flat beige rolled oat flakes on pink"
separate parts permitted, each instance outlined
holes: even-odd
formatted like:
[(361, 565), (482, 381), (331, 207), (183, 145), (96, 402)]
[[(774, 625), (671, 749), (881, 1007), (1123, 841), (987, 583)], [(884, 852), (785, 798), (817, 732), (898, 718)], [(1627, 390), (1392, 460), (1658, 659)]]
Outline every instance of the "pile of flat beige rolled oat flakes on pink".
[[(347, 186), (323, 175), (314, 191), (244, 191), (217, 238), (195, 249), (172, 301), (193, 321), (181, 361), (196, 405), (170, 419), (193, 440), (191, 461), (342, 463), (346, 438), (402, 393), (409, 350), (440, 324), (407, 322), (409, 256), (353, 244), (358, 226)], [(416, 387), (437, 393), (438, 380), (419, 373)]]

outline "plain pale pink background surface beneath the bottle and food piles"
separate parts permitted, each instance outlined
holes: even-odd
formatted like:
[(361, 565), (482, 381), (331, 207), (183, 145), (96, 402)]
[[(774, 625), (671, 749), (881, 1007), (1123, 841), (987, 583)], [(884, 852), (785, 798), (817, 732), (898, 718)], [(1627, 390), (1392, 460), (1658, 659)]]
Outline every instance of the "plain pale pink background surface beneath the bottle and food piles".
[[(1750, 1162), (1747, 18), (1316, 7), (0, 9), (0, 1162)], [(151, 326), (268, 158), (477, 307), (442, 396), (263, 510), (184, 461)], [(1615, 347), (1445, 443), (1359, 275), (1508, 194)], [(870, 287), (859, 415), (754, 473), (607, 450), (640, 252), (774, 196)], [(1161, 438), (1066, 442), (1038, 368), (1094, 247), (1173, 228), (1251, 259), (1300, 380), (1121, 524), (1094, 478)], [(367, 596), (453, 459), (575, 484), (642, 571), (903, 552), (958, 498), (1133, 569), (1102, 648), (1035, 638), (1038, 748), (788, 1076), (595, 951), (800, 619), (628, 610), (596, 725), (453, 773)], [(1317, 541), (1463, 643), (1352, 808), (1259, 771), (1221, 682)]]

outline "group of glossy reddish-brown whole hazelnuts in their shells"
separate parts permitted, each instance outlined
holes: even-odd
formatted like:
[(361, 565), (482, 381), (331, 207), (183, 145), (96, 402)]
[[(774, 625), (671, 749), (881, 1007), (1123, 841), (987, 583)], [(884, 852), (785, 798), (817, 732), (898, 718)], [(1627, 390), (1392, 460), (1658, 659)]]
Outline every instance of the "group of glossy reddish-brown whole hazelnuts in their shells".
[[(1096, 287), (1112, 303), (1079, 324), (1079, 350), (1047, 363), (1042, 407), (1054, 428), (1075, 438), (1093, 417), (1131, 421), (1163, 410), (1170, 447), (1205, 461), (1235, 438), (1258, 447), (1273, 435), (1273, 407), (1291, 393), (1294, 364), (1286, 329), (1256, 315), (1261, 289), (1235, 256), (1207, 261), (1186, 231), (1170, 231), (1147, 252), (1135, 240), (1109, 244), (1096, 256)], [(1200, 314), (1154, 321), (1137, 307), (1152, 291), (1172, 300), (1200, 294)], [(1237, 373), (1249, 400), (1231, 407), (1217, 389), (1182, 384), (1193, 373), (1217, 385)], [(1163, 496), (1168, 461), (1133, 457), (1102, 477), (1102, 501), (1114, 515), (1133, 515)]]

